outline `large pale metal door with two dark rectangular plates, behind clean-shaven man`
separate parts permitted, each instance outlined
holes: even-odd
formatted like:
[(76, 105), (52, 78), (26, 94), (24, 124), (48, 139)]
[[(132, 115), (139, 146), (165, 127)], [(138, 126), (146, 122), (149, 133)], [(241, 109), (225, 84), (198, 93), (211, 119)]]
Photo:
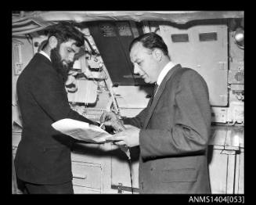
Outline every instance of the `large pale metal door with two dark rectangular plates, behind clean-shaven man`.
[(178, 28), (160, 25), (171, 60), (197, 70), (207, 82), (211, 106), (228, 104), (228, 27), (226, 24)]

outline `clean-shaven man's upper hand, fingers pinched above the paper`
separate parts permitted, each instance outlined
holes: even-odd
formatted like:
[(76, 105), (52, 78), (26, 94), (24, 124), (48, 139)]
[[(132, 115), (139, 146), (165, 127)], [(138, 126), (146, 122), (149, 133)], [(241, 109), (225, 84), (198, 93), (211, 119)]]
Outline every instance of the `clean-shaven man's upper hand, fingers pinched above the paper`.
[(99, 119), (100, 124), (104, 124), (106, 126), (111, 126), (114, 128), (114, 131), (124, 131), (124, 124), (117, 115), (113, 112), (104, 112), (100, 119)]

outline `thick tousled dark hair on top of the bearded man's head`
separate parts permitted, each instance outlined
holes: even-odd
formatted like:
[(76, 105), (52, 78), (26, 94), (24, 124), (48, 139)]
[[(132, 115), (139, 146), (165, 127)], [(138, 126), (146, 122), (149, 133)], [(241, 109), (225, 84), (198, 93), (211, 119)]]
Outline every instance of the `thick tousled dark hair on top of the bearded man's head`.
[(78, 47), (85, 44), (84, 34), (81, 33), (72, 22), (54, 24), (45, 30), (45, 34), (48, 35), (48, 38), (55, 36), (58, 39), (59, 44), (66, 42), (69, 39), (76, 41), (75, 45)]

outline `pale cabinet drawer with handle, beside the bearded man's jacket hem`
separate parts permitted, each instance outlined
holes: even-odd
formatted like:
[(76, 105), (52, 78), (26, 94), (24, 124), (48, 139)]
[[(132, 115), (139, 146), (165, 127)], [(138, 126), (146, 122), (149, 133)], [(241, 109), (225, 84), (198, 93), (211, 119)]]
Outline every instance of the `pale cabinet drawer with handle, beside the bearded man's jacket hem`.
[(102, 167), (100, 164), (72, 161), (73, 185), (101, 189)]

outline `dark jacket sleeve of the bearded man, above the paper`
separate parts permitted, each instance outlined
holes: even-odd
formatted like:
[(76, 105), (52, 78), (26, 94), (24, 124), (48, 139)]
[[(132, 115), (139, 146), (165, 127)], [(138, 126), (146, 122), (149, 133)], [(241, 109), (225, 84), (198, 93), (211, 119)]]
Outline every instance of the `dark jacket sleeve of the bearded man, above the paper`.
[[(46, 70), (46, 68), (45, 68)], [(31, 85), (35, 102), (41, 109), (52, 118), (52, 120), (61, 120), (63, 118), (71, 118), (74, 120), (85, 121), (89, 124), (97, 124), (92, 120), (81, 116), (70, 108), (67, 99), (67, 92), (63, 81), (56, 74), (55, 70), (39, 71), (33, 78)]]

